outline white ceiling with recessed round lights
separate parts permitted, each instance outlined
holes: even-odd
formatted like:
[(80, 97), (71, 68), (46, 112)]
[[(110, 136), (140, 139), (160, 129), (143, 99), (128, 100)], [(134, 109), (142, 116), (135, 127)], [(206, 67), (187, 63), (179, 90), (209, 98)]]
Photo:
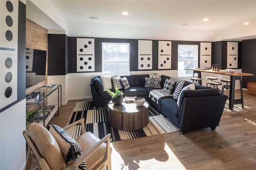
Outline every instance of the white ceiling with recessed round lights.
[[(36, 2), (42, 0), (32, 0)], [(163, 27), (223, 31), (256, 25), (256, 0), (46, 0), (65, 20), (67, 31), (86, 23), (92, 26)], [(46, 3), (46, 1), (42, 1)], [(28, 2), (28, 0), (27, 0)], [(28, 4), (28, 3), (27, 3)], [(38, 6), (40, 8), (40, 6)], [(126, 11), (127, 16), (122, 15)], [(89, 17), (97, 17), (92, 20)], [(204, 18), (210, 18), (204, 22)], [(52, 22), (51, 22), (52, 23)], [(80, 23), (78, 25), (74, 23)], [(188, 24), (182, 26), (182, 24)], [(52, 29), (52, 24), (44, 24)], [(103, 25), (102, 25), (103, 26)], [(61, 30), (59, 26), (54, 28)], [(79, 31), (82, 34), (81, 31)], [(256, 31), (255, 31), (256, 32)], [(71, 32), (69, 34), (72, 34)], [(83, 35), (81, 35), (83, 36)], [(252, 35), (248, 35), (252, 36)]]

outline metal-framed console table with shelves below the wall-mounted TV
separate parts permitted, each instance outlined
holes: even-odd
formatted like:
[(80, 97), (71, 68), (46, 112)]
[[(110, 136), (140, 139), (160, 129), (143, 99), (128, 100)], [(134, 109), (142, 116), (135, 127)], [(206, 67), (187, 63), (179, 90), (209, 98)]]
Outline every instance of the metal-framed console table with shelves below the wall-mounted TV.
[[(50, 112), (50, 115), (43, 120), (39, 120), (39, 112), (40, 112), (40, 104), (43, 103), (43, 114), (45, 117), (45, 100), (54, 93), (54, 91), (58, 90), (58, 105), (55, 105), (54, 109)], [(62, 98), (62, 86), (61, 85), (56, 85), (55, 87), (49, 87), (49, 88), (43, 88), (40, 87), (39, 89), (36, 89), (35, 91), (33, 91), (32, 93), (39, 93), (39, 99), (35, 102), (32, 103), (26, 103), (26, 105), (37, 105), (37, 123), (40, 123), (41, 125), (43, 125), (44, 127), (46, 127), (48, 125), (48, 123), (51, 121), (51, 119), (54, 117), (54, 115), (56, 114), (56, 112), (58, 112), (57, 115), (59, 115), (59, 109), (61, 106), (61, 98)]]

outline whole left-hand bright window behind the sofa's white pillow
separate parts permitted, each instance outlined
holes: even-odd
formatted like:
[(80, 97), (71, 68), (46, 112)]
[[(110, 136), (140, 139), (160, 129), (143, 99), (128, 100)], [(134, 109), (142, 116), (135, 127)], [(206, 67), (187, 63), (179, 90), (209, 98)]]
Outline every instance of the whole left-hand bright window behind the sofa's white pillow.
[(129, 43), (102, 43), (103, 75), (130, 75)]

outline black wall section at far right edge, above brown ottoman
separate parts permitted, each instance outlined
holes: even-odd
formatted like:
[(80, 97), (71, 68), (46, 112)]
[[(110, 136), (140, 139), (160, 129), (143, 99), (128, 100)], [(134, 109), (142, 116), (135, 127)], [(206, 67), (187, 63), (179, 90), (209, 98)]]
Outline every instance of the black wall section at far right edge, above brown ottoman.
[(256, 39), (242, 41), (242, 72), (253, 73), (253, 76), (242, 76), (242, 87), (247, 82), (256, 82)]

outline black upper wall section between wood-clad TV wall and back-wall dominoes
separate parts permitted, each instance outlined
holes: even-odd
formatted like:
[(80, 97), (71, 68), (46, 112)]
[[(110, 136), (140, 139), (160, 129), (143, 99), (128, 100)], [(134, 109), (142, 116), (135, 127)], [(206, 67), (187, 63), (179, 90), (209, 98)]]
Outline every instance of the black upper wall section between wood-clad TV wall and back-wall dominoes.
[(66, 75), (66, 35), (48, 34), (48, 75)]

